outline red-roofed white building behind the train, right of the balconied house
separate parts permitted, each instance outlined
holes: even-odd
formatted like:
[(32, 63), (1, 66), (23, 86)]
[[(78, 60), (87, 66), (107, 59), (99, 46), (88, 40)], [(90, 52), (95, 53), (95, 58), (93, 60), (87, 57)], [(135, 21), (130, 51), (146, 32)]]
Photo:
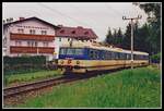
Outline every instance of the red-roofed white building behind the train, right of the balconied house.
[(82, 26), (78, 27), (68, 27), (58, 25), (56, 29), (56, 54), (59, 55), (59, 48), (62, 45), (73, 42), (73, 41), (83, 41), (83, 42), (93, 42), (97, 39), (97, 35), (91, 28), (83, 28)]

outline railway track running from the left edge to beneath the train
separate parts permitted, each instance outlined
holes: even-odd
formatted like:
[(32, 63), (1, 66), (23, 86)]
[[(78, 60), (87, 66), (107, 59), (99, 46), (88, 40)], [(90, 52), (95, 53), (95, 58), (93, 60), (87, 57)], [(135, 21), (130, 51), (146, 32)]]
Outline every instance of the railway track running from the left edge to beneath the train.
[[(117, 69), (118, 71), (118, 69)], [(110, 70), (110, 72), (115, 72), (115, 70)], [(59, 84), (63, 84), (63, 83), (70, 83), (70, 82), (74, 82), (74, 81), (79, 81), (79, 79), (86, 79), (86, 78), (91, 78), (91, 77), (95, 77), (97, 75), (104, 75), (107, 74), (107, 72), (92, 72), (90, 74), (86, 75), (69, 75), (69, 76), (62, 76), (62, 77), (58, 77), (58, 78), (49, 78), (49, 79), (45, 79), (45, 81), (39, 81), (39, 82), (34, 82), (34, 83), (30, 83), (30, 84), (24, 84), (24, 85), (19, 85), (19, 86), (14, 86), (14, 87), (8, 87), (3, 89), (3, 97), (4, 98), (9, 98), (12, 96), (17, 96), (24, 92), (28, 92), (32, 90), (38, 90), (42, 88), (46, 88), (46, 87), (50, 87), (50, 86), (56, 86)]]

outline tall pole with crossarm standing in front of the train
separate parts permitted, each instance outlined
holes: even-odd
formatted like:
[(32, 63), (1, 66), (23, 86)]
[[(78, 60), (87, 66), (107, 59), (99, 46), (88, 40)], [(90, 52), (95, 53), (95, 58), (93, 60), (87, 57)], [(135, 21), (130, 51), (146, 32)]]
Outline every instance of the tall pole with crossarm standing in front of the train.
[(138, 15), (138, 17), (129, 17), (122, 16), (122, 20), (130, 20), (131, 24), (131, 70), (133, 69), (133, 20), (140, 20), (142, 16)]

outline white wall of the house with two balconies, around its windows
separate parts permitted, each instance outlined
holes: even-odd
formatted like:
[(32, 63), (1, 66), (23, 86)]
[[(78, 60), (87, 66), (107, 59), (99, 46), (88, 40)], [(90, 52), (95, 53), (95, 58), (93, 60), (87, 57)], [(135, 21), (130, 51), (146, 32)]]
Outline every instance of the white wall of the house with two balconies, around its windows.
[[(12, 54), (10, 53), (10, 46), (15, 46), (15, 40), (10, 40), (10, 33), (19, 34), (19, 30), (17, 30), (19, 28), (23, 28), (24, 34), (30, 34), (30, 29), (35, 29), (36, 35), (42, 35), (42, 30), (46, 30), (47, 32), (46, 35), (55, 36), (55, 28), (39, 21), (25, 21), (22, 23), (11, 24), (9, 27), (3, 28), (4, 29), (3, 35), (4, 37), (7, 37), (7, 53), (3, 53), (3, 55), (4, 54), (10, 55), (10, 57), (17, 55), (16, 53), (12, 53)], [(27, 40), (20, 40), (20, 41), (21, 41), (21, 46), (27, 46)], [(37, 42), (38, 42), (37, 44), (38, 47), (44, 47), (44, 44), (43, 44), (44, 41), (37, 41)], [(55, 47), (55, 40), (48, 41), (48, 47)], [(30, 54), (36, 55), (36, 53), (34, 54), (30, 53)], [(52, 59), (52, 54), (44, 54), (44, 55), (48, 55), (49, 58)]]

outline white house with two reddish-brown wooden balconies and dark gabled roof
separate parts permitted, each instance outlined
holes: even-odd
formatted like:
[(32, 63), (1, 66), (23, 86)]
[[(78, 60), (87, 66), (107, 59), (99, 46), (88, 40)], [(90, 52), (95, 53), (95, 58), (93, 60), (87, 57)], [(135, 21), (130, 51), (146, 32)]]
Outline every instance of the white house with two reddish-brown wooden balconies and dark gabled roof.
[(55, 30), (48, 22), (37, 17), (21, 17), (19, 21), (3, 24), (3, 55), (20, 57), (46, 55), (56, 58)]

